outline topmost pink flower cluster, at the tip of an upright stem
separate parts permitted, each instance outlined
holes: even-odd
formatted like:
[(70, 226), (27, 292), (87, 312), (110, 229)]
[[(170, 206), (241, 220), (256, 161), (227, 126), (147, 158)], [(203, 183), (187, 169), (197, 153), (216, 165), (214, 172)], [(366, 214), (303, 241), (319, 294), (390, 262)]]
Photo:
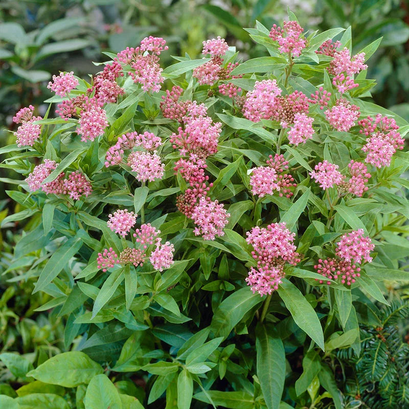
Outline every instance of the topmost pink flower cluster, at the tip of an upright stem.
[(280, 53), (299, 57), (307, 45), (307, 40), (302, 36), (303, 31), (298, 21), (284, 21), (283, 28), (276, 24), (272, 26), (269, 37), (278, 42)]

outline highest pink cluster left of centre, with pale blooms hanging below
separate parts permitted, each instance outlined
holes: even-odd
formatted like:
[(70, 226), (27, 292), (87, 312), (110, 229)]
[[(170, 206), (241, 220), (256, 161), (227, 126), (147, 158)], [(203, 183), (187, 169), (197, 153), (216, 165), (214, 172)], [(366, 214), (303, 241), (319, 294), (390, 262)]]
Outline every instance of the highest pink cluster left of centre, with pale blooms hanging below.
[(128, 75), (133, 82), (141, 84), (145, 92), (159, 92), (164, 78), (158, 56), (168, 49), (165, 44), (162, 37), (145, 37), (140, 47), (126, 48), (118, 53), (115, 61), (131, 66)]

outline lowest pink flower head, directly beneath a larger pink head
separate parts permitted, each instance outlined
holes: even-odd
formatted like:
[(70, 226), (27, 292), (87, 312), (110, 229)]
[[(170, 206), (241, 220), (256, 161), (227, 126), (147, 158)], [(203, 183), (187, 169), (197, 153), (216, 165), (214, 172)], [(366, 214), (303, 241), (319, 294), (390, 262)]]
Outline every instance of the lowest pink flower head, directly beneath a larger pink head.
[(263, 297), (265, 294), (271, 294), (277, 290), (284, 276), (285, 273), (281, 266), (262, 266), (258, 270), (251, 267), (245, 281), (247, 285), (251, 285), (250, 289), (253, 294), (258, 292)]

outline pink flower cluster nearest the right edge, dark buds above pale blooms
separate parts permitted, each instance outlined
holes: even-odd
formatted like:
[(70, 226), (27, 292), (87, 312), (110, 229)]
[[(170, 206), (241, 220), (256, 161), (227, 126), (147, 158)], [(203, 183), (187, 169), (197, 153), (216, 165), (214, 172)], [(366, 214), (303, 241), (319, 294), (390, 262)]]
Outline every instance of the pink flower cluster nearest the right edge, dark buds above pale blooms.
[(358, 121), (362, 128), (359, 132), (364, 133), (367, 143), (362, 150), (367, 153), (365, 162), (381, 168), (389, 166), (396, 150), (403, 149), (404, 139), (398, 132), (399, 126), (390, 117), (382, 117), (379, 113), (375, 119), (367, 117)]

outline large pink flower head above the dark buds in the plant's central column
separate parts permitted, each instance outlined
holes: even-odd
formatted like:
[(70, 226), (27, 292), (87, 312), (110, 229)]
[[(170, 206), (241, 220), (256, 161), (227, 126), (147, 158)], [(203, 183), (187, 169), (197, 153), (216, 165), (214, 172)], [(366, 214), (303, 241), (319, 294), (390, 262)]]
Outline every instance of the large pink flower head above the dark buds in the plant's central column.
[(210, 117), (190, 118), (185, 128), (179, 127), (178, 133), (173, 133), (170, 142), (173, 149), (179, 149), (183, 155), (194, 153), (207, 157), (217, 152), (221, 123), (213, 123)]

